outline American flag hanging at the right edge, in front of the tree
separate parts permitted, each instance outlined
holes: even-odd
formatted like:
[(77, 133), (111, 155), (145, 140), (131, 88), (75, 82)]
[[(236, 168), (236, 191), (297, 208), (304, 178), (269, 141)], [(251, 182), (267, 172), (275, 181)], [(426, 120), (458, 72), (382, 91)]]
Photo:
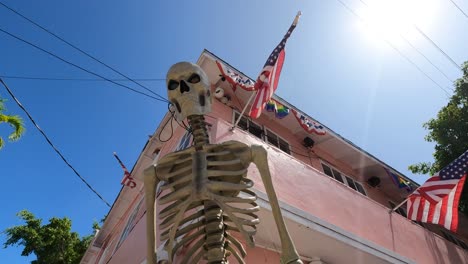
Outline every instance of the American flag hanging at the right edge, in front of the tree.
[(408, 218), (442, 225), (455, 232), (458, 227), (458, 203), (467, 173), (468, 151), (408, 197)]

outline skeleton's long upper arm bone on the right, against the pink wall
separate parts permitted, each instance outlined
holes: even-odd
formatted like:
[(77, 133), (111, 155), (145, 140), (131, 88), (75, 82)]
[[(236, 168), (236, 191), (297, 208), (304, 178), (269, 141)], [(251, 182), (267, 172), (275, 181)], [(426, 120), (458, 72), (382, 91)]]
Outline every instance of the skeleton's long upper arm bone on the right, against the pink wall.
[(294, 247), (294, 243), (289, 236), (288, 230), (284, 223), (281, 209), (279, 207), (278, 198), (276, 197), (273, 181), (271, 179), (270, 170), (268, 168), (267, 152), (262, 146), (253, 145), (252, 162), (257, 166), (260, 176), (262, 177), (265, 186), (268, 200), (270, 201), (273, 217), (275, 218), (276, 226), (281, 240), (281, 263), (284, 264), (302, 264), (299, 259), (299, 254)]

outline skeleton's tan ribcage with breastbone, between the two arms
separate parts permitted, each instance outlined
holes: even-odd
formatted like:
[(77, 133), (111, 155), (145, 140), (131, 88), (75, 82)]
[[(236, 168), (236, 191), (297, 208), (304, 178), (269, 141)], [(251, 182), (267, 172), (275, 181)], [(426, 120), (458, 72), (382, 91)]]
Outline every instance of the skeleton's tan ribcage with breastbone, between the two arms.
[(249, 190), (253, 182), (245, 177), (249, 164), (234, 154), (249, 148), (237, 142), (237, 149), (223, 145), (176, 152), (157, 166), (158, 175), (166, 175), (161, 189), (168, 192), (158, 201), (165, 206), (159, 213), (160, 239), (166, 241), (171, 262), (181, 253), (180, 263), (201, 259), (227, 263), (230, 254), (244, 263), (245, 250), (233, 232), (254, 246), (259, 207), (255, 193)]

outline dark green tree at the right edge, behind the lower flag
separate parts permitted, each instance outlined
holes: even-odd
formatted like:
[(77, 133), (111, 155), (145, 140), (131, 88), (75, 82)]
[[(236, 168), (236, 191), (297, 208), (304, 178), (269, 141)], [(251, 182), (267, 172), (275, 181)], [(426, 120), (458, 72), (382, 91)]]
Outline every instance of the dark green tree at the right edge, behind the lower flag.
[[(463, 64), (463, 76), (455, 81), (455, 91), (436, 118), (424, 124), (429, 131), (425, 140), (435, 142), (434, 162), (410, 165), (413, 173), (433, 175), (468, 150), (468, 61)], [(468, 185), (460, 199), (460, 211), (468, 215)]]

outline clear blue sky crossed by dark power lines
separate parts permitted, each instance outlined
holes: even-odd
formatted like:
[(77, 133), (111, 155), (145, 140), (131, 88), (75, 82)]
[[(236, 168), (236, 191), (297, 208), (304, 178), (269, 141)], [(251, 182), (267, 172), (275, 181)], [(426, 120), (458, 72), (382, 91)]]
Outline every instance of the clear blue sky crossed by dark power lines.
[[(342, 1), (358, 13), (365, 8), (358, 0)], [(432, 160), (433, 145), (424, 141), (422, 124), (446, 104), (447, 96), (336, 0), (2, 2), (132, 78), (164, 78), (170, 65), (195, 62), (204, 48), (256, 77), (301, 10), (277, 93), (415, 181), (425, 180), (407, 166)], [(418, 26), (461, 64), (468, 59), (468, 19), (448, 0), (429, 2), (430, 16), (416, 21)], [(457, 2), (468, 11), (466, 2)], [(424, 6), (417, 10), (426, 11)], [(0, 28), (107, 78), (120, 78), (1, 6)], [(451, 79), (461, 75), (414, 29), (405, 36)], [(391, 41), (437, 83), (452, 87), (410, 46)], [(0, 58), (1, 76), (94, 78), (3, 33)], [(73, 166), (111, 203), (123, 175), (112, 153), (131, 168), (167, 109), (102, 81), (5, 81)], [(166, 97), (164, 82), (144, 84)], [(67, 216), (74, 231), (91, 233), (93, 220), (109, 208), (47, 145), (3, 87), (0, 96), (9, 100), (8, 113), (22, 115), (27, 126), (22, 140), (0, 151), (0, 229), (20, 224), (15, 214), (28, 209), (44, 222)], [(0, 126), (2, 136), (8, 132)], [(0, 261), (34, 259), (20, 252), (0, 249)]]

